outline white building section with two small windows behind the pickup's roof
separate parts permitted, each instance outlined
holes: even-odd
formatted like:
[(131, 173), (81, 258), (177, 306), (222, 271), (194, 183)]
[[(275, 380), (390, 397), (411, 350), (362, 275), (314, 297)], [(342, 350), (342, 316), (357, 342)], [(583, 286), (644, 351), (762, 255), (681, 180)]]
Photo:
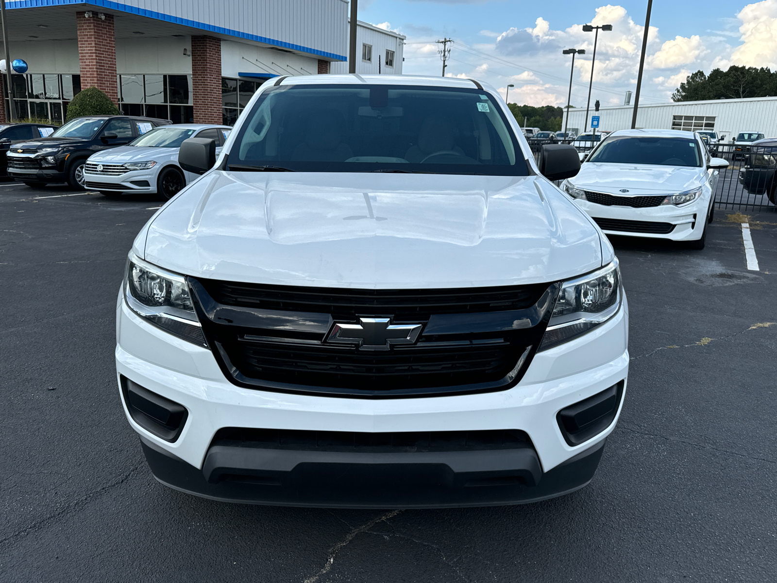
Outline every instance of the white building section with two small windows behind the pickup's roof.
[[(350, 23), (350, 18), (348, 22)], [(405, 38), (391, 30), (357, 21), (356, 72), (365, 75), (402, 75), (402, 49), (405, 47)], [(348, 62), (333, 62), (329, 65), (329, 72), (347, 73)]]

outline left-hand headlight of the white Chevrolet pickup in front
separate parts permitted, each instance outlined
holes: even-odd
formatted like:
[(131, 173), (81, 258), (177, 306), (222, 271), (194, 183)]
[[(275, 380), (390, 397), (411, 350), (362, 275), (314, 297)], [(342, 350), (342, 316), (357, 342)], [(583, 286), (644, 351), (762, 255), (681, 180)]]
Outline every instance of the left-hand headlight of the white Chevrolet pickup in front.
[(182, 275), (163, 270), (130, 253), (124, 277), (124, 298), (130, 309), (183, 340), (207, 347)]

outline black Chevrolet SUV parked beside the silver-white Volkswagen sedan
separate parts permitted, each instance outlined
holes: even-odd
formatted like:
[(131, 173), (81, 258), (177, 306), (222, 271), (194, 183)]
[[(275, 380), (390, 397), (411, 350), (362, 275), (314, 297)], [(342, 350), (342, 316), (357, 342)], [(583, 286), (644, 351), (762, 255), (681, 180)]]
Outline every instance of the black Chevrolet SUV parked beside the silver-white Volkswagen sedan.
[(84, 164), (90, 155), (127, 145), (154, 127), (170, 123), (153, 117), (76, 117), (47, 138), (14, 144), (8, 152), (8, 174), (29, 187), (67, 182), (72, 188), (82, 190)]

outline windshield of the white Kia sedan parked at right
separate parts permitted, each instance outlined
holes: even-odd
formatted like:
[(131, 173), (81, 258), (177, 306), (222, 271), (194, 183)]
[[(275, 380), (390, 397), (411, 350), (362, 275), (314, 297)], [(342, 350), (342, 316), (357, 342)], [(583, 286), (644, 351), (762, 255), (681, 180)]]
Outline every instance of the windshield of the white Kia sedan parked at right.
[(586, 162), (702, 166), (702, 155), (696, 141), (686, 138), (613, 136), (601, 142)]

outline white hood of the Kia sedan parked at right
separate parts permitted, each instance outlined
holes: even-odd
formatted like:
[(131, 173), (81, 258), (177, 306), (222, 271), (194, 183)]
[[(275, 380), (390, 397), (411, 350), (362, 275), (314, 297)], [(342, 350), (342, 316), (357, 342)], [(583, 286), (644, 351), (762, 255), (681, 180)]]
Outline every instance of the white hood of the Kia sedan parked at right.
[(700, 187), (705, 168), (585, 162), (570, 183), (583, 190), (608, 194), (674, 194)]

